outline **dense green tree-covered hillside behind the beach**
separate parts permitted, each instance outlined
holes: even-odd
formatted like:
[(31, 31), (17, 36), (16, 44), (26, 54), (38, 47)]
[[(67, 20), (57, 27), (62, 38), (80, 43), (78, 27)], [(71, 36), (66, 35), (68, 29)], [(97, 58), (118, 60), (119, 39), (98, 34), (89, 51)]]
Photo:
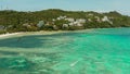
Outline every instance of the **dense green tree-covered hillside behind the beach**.
[[(74, 20), (83, 18), (83, 26), (63, 27), (68, 21), (56, 20), (58, 16), (67, 16)], [(104, 16), (109, 21), (101, 22)], [(39, 23), (40, 22), (40, 23)], [(113, 24), (112, 24), (113, 22)], [(41, 25), (46, 24), (46, 25)], [(40, 28), (38, 27), (40, 26)], [(130, 16), (121, 15), (113, 11), (109, 13), (63, 11), (50, 9), (36, 12), (18, 12), (12, 10), (0, 11), (0, 34), (13, 32), (35, 32), (35, 30), (58, 30), (58, 29), (83, 29), (83, 28), (107, 28), (107, 27), (129, 27)]]

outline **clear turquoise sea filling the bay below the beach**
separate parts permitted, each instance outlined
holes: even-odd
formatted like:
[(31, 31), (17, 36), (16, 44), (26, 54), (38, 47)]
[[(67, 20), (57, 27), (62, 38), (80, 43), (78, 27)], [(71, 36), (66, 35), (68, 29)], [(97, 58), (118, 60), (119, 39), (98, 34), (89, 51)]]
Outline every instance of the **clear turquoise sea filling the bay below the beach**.
[(130, 74), (130, 28), (0, 39), (0, 74)]

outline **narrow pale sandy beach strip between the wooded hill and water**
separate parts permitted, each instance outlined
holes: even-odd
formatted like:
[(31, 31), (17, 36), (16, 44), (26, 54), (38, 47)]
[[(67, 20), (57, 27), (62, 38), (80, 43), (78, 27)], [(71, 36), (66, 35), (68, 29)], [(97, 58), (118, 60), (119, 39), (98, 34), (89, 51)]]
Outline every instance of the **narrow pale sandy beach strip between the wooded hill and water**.
[[(116, 27), (116, 28), (125, 28), (125, 27)], [(6, 37), (12, 37), (12, 36), (27, 36), (27, 35), (52, 35), (52, 34), (58, 34), (58, 33), (77, 33), (77, 32), (82, 32), (82, 30), (93, 30), (95, 28), (89, 28), (89, 29), (79, 29), (79, 30), (39, 30), (39, 32), (17, 32), (17, 33), (6, 33), (6, 34), (0, 34), (0, 39), (1, 38), (6, 38)], [(106, 29), (106, 28), (96, 28), (96, 29)]]

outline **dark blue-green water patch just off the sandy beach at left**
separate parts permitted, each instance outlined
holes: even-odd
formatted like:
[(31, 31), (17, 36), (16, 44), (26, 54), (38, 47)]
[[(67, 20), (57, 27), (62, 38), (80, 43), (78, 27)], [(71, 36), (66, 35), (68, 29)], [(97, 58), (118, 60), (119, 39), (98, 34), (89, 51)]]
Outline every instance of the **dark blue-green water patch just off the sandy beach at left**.
[(23, 37), (13, 37), (6, 39), (0, 39), (0, 47), (9, 48), (37, 48), (41, 47), (44, 42), (52, 39), (44, 38), (43, 35), (31, 35)]

